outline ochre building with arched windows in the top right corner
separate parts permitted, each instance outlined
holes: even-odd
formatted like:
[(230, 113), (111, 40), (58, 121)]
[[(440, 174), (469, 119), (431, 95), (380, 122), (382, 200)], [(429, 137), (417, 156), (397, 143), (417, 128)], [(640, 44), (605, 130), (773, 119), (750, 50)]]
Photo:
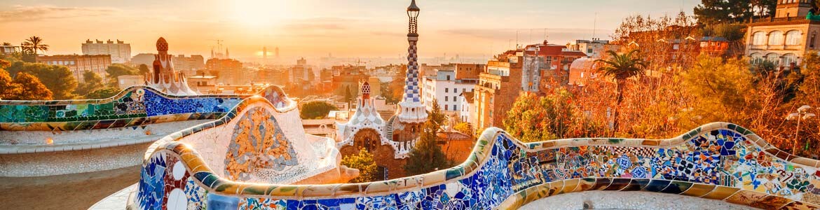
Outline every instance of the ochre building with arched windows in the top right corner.
[(807, 18), (811, 0), (779, 0), (772, 18), (750, 23), (746, 31), (746, 57), (752, 63), (772, 62), (791, 69), (800, 66), (804, 54), (818, 50), (820, 21)]

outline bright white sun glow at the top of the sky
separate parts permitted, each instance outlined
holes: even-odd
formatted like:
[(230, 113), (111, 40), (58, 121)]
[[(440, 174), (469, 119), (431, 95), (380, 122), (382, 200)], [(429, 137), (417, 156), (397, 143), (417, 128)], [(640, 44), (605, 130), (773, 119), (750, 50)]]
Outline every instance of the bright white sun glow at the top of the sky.
[(289, 11), (286, 0), (237, 0), (231, 4), (235, 21), (249, 26), (275, 25)]

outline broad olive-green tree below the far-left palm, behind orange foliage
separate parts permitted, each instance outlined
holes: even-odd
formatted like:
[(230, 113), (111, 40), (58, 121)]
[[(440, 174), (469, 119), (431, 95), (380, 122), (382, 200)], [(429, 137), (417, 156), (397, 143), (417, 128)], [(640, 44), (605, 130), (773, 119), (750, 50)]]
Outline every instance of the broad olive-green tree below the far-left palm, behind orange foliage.
[(20, 72), (36, 76), (40, 82), (52, 91), (52, 98), (54, 99), (66, 100), (75, 97), (74, 91), (77, 88), (77, 79), (66, 66), (14, 62), (8, 67), (7, 71), (12, 77)]

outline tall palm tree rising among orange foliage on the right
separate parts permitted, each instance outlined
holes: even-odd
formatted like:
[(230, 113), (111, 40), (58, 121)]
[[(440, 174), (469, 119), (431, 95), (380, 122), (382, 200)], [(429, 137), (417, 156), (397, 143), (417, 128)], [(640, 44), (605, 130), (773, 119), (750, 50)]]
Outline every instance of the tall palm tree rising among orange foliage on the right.
[(623, 102), (623, 89), (626, 86), (626, 80), (637, 75), (644, 75), (646, 62), (638, 57), (637, 54), (640, 52), (636, 49), (621, 54), (612, 50), (607, 51), (607, 53), (609, 54), (608, 59), (598, 59), (595, 62), (604, 63), (604, 66), (600, 66), (598, 71), (615, 79), (617, 100), (615, 101), (616, 107), (613, 113), (613, 131), (617, 132), (618, 109), (620, 109)]

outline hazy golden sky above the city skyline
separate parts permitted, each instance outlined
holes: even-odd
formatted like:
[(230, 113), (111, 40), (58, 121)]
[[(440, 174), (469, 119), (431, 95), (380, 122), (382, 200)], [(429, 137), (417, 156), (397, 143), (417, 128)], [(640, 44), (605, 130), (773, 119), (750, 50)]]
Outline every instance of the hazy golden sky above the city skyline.
[[(132, 55), (156, 52), (162, 36), (172, 54), (210, 56), (216, 39), (231, 57), (279, 47), (283, 57), (399, 57), (407, 52), (409, 0), (0, 0), (0, 42), (38, 35), (48, 54), (81, 53), (85, 39), (121, 39)], [(418, 0), (421, 57), (484, 57), (544, 39), (565, 44), (608, 39), (633, 14), (691, 13), (699, 0)], [(261, 56), (259, 56), (261, 57)]]

